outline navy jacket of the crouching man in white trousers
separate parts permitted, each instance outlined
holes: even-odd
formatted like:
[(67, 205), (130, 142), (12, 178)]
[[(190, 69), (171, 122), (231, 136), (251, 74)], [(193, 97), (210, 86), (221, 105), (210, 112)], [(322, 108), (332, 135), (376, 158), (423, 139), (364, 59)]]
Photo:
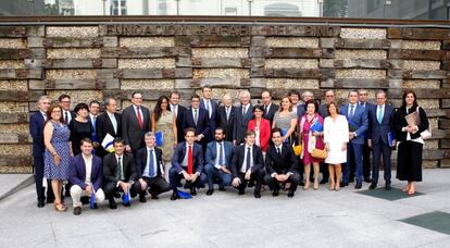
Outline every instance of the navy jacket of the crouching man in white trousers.
[[(72, 157), (70, 160), (70, 175), (68, 181), (73, 185), (78, 185), (80, 188), (86, 189), (88, 186), (86, 182), (86, 163), (83, 159), (83, 153)], [(98, 190), (103, 184), (103, 170), (101, 159), (97, 156), (92, 156), (92, 169), (90, 171), (90, 182), (93, 190)]]

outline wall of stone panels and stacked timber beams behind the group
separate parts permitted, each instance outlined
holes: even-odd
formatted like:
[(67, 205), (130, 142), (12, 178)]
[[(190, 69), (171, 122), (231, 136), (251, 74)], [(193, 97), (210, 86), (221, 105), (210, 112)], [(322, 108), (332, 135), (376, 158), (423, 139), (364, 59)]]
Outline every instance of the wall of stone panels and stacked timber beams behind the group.
[[(264, 88), (275, 98), (309, 89), (387, 89), (398, 107), (417, 92), (434, 137), (424, 166), (450, 166), (450, 30), (321, 25), (101, 24), (0, 26), (0, 173), (30, 172), (29, 112), (41, 95), (73, 104), (113, 96), (121, 109), (143, 91), (152, 108), (173, 89), (186, 99), (201, 86), (215, 98)], [(255, 100), (258, 101), (258, 100)]]

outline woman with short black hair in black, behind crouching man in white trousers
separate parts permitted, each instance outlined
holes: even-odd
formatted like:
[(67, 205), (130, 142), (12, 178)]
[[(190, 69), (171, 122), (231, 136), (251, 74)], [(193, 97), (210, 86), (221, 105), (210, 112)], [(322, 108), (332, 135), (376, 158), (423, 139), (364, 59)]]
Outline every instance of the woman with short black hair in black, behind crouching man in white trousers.
[(68, 129), (71, 129), (70, 140), (72, 141), (72, 149), (74, 156), (76, 156), (82, 152), (82, 139), (92, 139), (93, 126), (88, 121), (89, 108), (86, 103), (78, 103), (75, 106), (74, 112), (76, 113), (76, 117), (68, 124)]

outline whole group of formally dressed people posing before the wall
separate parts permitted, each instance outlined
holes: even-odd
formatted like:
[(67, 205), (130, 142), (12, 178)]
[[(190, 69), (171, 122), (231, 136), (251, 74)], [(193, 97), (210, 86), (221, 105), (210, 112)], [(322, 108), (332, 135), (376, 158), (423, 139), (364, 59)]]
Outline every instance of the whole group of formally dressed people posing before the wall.
[[(136, 91), (122, 113), (116, 112), (114, 98), (104, 99), (100, 113), (97, 100), (71, 111), (68, 95), (54, 101), (42, 96), (29, 121), (37, 206), (46, 203), (46, 185), (47, 202), (66, 211), (64, 196), (70, 196), (76, 215), (83, 203), (95, 209), (104, 199), (115, 209), (115, 198), (129, 207), (136, 196), (140, 202), (147, 201), (146, 195), (158, 199), (168, 190), (172, 200), (186, 197), (178, 190), (183, 179), (190, 196), (205, 185), (211, 196), (218, 184), (218, 190), (233, 186), (239, 195), (254, 187), (255, 198), (263, 185), (273, 196), (282, 190), (293, 197), (299, 185), (318, 189), (328, 179), (329, 190), (354, 181), (355, 189), (363, 182), (375, 189), (382, 158), (385, 189), (390, 190), (396, 141), (397, 177), (408, 181), (403, 190), (413, 195), (415, 182), (422, 181), (421, 133), (429, 125), (414, 91), (404, 91), (397, 111), (384, 90), (376, 92), (375, 103), (367, 102), (364, 89), (350, 90), (348, 103), (340, 107), (333, 90), (324, 97), (318, 106), (311, 91), (290, 90), (278, 106), (264, 90), (261, 104), (253, 106), (250, 92), (243, 90), (236, 107), (229, 95), (221, 103), (213, 100), (207, 86), (202, 97), (191, 96), (189, 108), (180, 106), (180, 95), (172, 91), (150, 111)], [(411, 124), (408, 115), (414, 112), (420, 123)]]

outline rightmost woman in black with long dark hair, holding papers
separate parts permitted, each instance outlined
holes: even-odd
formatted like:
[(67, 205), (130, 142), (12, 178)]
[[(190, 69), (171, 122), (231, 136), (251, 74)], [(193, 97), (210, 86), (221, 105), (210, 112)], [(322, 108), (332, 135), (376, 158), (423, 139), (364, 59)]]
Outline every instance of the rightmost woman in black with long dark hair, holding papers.
[[(403, 101), (396, 112), (395, 126), (398, 141), (397, 178), (408, 181), (403, 191), (414, 195), (415, 182), (422, 182), (422, 150), (424, 139), (421, 133), (428, 128), (428, 119), (424, 109), (417, 106), (417, 98), (413, 90), (403, 92)], [(418, 111), (421, 122), (418, 125), (408, 125), (405, 116)]]

